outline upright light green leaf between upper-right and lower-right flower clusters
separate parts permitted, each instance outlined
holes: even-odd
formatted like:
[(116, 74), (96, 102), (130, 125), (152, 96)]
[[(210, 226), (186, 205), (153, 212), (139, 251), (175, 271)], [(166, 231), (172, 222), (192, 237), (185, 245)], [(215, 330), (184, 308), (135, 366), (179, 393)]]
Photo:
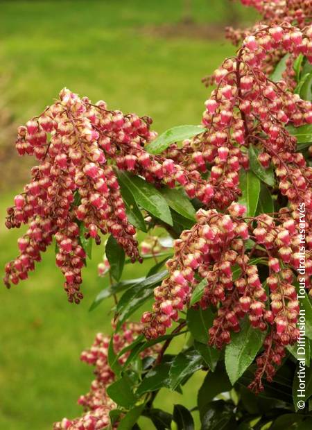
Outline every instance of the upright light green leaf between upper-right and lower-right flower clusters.
[(239, 187), (242, 192), (239, 203), (247, 207), (246, 216), (254, 216), (260, 193), (259, 178), (252, 171), (242, 170), (239, 175)]

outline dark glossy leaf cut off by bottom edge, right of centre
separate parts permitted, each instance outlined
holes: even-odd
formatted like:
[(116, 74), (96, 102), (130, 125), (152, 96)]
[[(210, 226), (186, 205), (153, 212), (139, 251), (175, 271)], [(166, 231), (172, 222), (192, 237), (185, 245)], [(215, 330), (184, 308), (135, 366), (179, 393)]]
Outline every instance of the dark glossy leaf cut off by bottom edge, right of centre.
[(234, 404), (224, 400), (211, 402), (207, 406), (207, 412), (202, 417), (201, 430), (236, 430), (237, 424), (233, 412)]

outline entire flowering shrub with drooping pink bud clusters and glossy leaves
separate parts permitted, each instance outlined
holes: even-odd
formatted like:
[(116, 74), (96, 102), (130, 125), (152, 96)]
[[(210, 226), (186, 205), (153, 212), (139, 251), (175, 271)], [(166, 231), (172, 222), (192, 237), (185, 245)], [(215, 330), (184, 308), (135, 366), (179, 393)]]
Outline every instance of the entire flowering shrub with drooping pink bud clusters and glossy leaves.
[[(92, 309), (114, 296), (114, 333), (82, 354), (96, 368), (84, 415), (55, 429), (136, 429), (141, 415), (157, 429), (193, 429), (193, 411), (202, 429), (311, 424), (312, 5), (242, 3), (263, 22), (227, 32), (240, 46), (206, 80), (215, 87), (202, 126), (157, 137), (148, 117), (62, 89), (19, 128), (19, 155), (38, 165), (8, 208), (7, 227), (28, 228), (5, 284), (25, 279), (55, 241), (78, 303), (92, 242), (108, 235), (98, 275), (110, 286)], [(125, 264), (148, 259), (145, 277), (121, 280)], [(195, 409), (153, 406), (161, 388), (181, 392), (199, 370)]]

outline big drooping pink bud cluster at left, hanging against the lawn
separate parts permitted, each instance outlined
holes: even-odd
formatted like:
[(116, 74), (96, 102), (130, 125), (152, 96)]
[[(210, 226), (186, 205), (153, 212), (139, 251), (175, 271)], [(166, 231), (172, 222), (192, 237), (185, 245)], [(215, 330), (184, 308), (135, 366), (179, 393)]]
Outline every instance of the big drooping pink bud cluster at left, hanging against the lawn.
[(58, 101), (19, 127), (19, 155), (35, 155), (39, 164), (24, 192), (15, 197), (15, 206), (8, 208), (6, 226), (28, 224), (29, 229), (19, 239), (19, 257), (6, 265), (7, 286), (27, 277), (55, 236), (64, 289), (71, 302), (79, 302), (85, 259), (81, 230), (97, 244), (100, 234), (112, 234), (132, 261), (140, 261), (135, 227), (128, 222), (114, 167), (156, 184), (182, 184), (189, 196), (203, 203), (211, 198), (214, 189), (200, 173), (144, 149), (155, 138), (150, 122), (62, 89)]

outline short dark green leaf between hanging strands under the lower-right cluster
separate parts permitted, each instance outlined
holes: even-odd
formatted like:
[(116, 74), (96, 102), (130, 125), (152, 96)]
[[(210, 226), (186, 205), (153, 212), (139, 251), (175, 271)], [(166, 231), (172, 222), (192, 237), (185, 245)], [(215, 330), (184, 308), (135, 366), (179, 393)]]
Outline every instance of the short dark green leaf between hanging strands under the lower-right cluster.
[(205, 310), (190, 308), (187, 311), (187, 327), (196, 341), (208, 343), (208, 330), (212, 327), (214, 318), (214, 313), (210, 308)]

